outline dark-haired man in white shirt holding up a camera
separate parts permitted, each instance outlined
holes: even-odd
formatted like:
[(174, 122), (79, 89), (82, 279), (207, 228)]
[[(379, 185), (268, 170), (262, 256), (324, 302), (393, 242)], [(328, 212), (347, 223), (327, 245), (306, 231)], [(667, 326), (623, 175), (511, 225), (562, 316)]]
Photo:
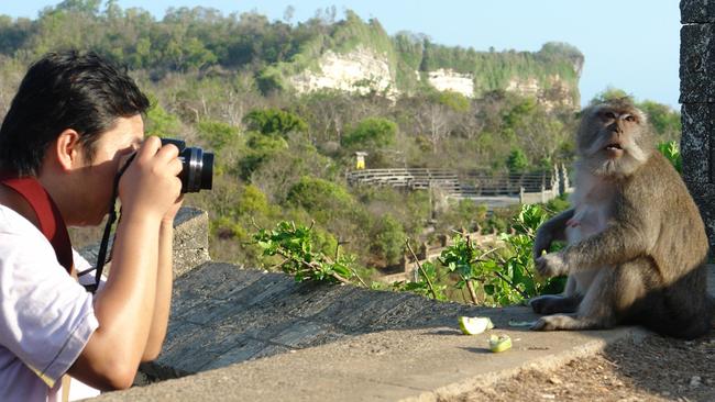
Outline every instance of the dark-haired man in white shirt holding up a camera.
[[(182, 163), (175, 146), (143, 139), (147, 108), (124, 71), (91, 53), (50, 54), (21, 82), (0, 127), (0, 171), (44, 188), (50, 199), (23, 194), (11, 179), (0, 186), (0, 401), (66, 398), (65, 375), (69, 392), (82, 383), (128, 388), (139, 364), (158, 355)], [(63, 222), (99, 224), (120, 164), (133, 153), (119, 181), (111, 275), (92, 295), (67, 271), (87, 261), (74, 253), (61, 265), (62, 247), (47, 237), (35, 203), (52, 206), (59, 234)]]

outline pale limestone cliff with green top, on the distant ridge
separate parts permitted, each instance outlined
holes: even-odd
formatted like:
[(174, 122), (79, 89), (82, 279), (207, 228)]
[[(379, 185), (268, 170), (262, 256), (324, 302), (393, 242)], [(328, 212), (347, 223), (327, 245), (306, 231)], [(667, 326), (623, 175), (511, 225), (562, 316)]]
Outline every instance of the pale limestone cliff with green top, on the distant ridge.
[(539, 52), (476, 52), (430, 43), (424, 37), (389, 37), (376, 20), (348, 13), (290, 63), (270, 66), (261, 78), (270, 88), (306, 93), (336, 89), (375, 91), (391, 99), (424, 89), (469, 98), (493, 90), (534, 97), (548, 109), (580, 104), (583, 55), (573, 46), (548, 43)]

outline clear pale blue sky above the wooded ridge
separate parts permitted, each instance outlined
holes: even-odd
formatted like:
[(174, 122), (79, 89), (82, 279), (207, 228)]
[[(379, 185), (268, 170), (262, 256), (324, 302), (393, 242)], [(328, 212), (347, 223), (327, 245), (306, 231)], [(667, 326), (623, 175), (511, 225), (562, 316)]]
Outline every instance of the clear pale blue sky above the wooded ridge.
[[(0, 13), (35, 18), (53, 0), (0, 0)], [(680, 10), (678, 0), (119, 0), (123, 9), (139, 7), (157, 19), (169, 7), (204, 5), (231, 12), (257, 11), (293, 21), (336, 5), (361, 18), (376, 18), (389, 34), (413, 31), (433, 42), (486, 51), (538, 51), (546, 42), (575, 45), (585, 55), (582, 102), (607, 87), (624, 89), (637, 100), (650, 99), (679, 108)]]

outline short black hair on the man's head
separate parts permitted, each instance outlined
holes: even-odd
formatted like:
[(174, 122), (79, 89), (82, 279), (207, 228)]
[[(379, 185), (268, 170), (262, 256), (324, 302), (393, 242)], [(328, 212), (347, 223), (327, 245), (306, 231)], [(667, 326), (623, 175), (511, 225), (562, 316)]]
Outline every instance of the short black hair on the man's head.
[(0, 126), (0, 168), (37, 176), (48, 146), (67, 129), (91, 160), (101, 133), (148, 107), (125, 68), (92, 52), (50, 53), (30, 67)]

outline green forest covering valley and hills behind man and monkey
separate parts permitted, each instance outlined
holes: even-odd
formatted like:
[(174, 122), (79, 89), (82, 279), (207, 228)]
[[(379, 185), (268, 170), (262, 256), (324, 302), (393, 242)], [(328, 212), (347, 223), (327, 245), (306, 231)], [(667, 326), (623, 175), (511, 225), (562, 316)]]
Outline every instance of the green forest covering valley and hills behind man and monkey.
[[(384, 55), (394, 90), (292, 87), (293, 76), (320, 69), (321, 55), (358, 47)], [(293, 22), (290, 9), (283, 21), (207, 8), (169, 9), (156, 20), (113, 0), (65, 0), (34, 20), (0, 15), (0, 115), (28, 65), (65, 48), (127, 66), (153, 102), (147, 134), (217, 154), (215, 189), (186, 203), (209, 211), (212, 257), (245, 266), (263, 263), (255, 227), (284, 220), (314, 222), (320, 248), (334, 253), (340, 243), (363, 267), (397, 263), (408, 237), (477, 223), (505, 228), (508, 212), (473, 201), (450, 201), (435, 216), (427, 191), (349, 187), (358, 150), (369, 168), (529, 171), (573, 158), (584, 57), (566, 44), (537, 53), (447, 47), (425, 34), (389, 36), (377, 20), (339, 18), (334, 8), (304, 22)], [(473, 93), (431, 87), (427, 77), (439, 69), (474, 77)], [(556, 76), (559, 85), (549, 87)], [(539, 94), (509, 90), (514, 80), (536, 82)], [(626, 93), (600, 97), (616, 94)], [(639, 105), (659, 141), (679, 139), (678, 112)]]

